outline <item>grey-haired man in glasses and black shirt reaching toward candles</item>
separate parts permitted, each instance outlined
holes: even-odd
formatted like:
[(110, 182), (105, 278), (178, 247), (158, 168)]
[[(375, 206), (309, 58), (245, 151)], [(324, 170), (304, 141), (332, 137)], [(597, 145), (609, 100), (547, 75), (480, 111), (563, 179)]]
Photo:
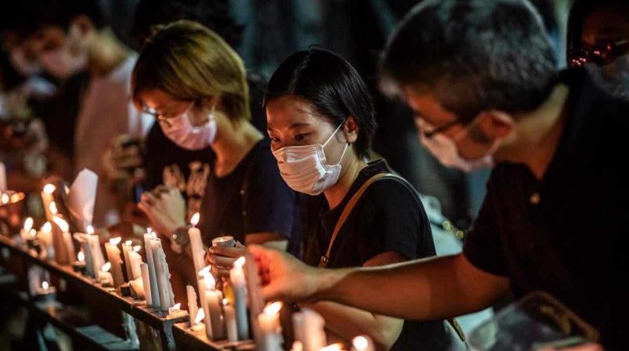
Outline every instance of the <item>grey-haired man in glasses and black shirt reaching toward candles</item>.
[(265, 298), (431, 320), (481, 310), (509, 289), (542, 290), (596, 328), (603, 347), (625, 347), (629, 174), (618, 162), (629, 106), (582, 68), (557, 73), (526, 1), (418, 4), (384, 51), (382, 87), (404, 95), (443, 162), (494, 165), (464, 251), (323, 270), (252, 247)]

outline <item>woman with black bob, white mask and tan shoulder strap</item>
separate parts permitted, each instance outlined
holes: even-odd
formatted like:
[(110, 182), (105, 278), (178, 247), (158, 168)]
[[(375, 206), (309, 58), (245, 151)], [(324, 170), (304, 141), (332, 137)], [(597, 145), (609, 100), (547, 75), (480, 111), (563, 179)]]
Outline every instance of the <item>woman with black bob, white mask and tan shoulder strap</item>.
[[(294, 53), (270, 78), (264, 106), (282, 178), (311, 195), (304, 262), (317, 266), (325, 257), (328, 267), (369, 267), (435, 256), (414, 188), (386, 161), (367, 161), (374, 105), (350, 63), (316, 48)], [(383, 350), (448, 347), (442, 320), (403, 321), (326, 301), (304, 306), (343, 340), (365, 333)]]

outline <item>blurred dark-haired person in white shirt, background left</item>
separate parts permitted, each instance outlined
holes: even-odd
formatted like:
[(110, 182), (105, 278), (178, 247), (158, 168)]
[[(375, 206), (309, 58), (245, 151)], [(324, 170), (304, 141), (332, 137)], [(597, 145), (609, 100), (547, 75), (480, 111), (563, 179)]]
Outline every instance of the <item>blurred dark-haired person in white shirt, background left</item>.
[(153, 123), (128, 99), (136, 53), (113, 34), (97, 0), (26, 0), (15, 6), (21, 20), (9, 30), (20, 33), (44, 70), (62, 80), (90, 73), (75, 125), (74, 175), (84, 168), (96, 172), (93, 223), (114, 224), (120, 220), (120, 203), (101, 158), (113, 138), (141, 138)]

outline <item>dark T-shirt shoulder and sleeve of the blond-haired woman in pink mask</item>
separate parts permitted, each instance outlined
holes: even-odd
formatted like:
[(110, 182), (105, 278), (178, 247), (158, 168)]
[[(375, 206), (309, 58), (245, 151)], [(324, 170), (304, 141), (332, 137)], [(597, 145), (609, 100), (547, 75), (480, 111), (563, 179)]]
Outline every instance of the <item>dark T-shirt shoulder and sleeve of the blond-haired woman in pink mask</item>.
[(296, 211), (295, 193), (279, 174), (269, 139), (263, 139), (229, 175), (216, 178), (209, 172), (199, 227), (208, 246), (222, 235), (243, 243), (245, 234), (256, 232), (290, 238)]

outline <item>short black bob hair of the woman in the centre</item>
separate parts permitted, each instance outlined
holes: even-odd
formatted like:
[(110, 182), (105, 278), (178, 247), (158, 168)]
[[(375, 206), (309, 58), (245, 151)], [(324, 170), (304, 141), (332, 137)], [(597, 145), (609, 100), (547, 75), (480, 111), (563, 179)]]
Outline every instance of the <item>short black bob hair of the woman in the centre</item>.
[(354, 152), (369, 157), (376, 111), (367, 85), (349, 62), (318, 48), (292, 54), (273, 73), (262, 104), (266, 109), (270, 100), (287, 94), (308, 100), (320, 116), (337, 126), (353, 117), (359, 127)]

